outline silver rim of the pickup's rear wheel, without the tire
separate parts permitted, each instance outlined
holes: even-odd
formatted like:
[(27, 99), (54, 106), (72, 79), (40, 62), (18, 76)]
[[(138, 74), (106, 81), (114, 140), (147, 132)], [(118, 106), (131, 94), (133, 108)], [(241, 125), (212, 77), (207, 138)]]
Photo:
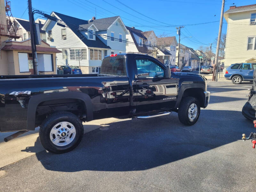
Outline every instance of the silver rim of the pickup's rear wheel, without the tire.
[(63, 121), (55, 124), (50, 132), (50, 139), (54, 145), (66, 146), (76, 137), (76, 128), (73, 124)]

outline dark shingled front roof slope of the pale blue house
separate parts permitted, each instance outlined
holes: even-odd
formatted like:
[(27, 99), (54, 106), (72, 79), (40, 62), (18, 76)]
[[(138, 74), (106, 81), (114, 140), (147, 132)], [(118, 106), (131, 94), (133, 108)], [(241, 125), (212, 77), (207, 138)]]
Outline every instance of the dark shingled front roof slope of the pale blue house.
[(88, 20), (77, 19), (75, 17), (70, 17), (68, 15), (64, 15), (61, 13), (54, 12), (61, 20), (66, 23), (66, 25), (78, 36), (81, 41), (86, 44), (88, 47), (96, 47), (103, 49), (111, 49), (109, 46), (104, 44), (98, 36), (96, 36), (95, 40), (89, 40), (85, 38), (82, 33), (78, 30), (79, 25), (88, 24)]

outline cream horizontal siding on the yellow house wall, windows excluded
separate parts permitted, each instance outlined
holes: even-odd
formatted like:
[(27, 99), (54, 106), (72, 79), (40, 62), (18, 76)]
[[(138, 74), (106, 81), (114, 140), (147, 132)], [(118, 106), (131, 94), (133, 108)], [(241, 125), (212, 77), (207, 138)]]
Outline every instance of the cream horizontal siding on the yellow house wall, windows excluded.
[(253, 12), (228, 15), (225, 65), (256, 57), (256, 50), (247, 50), (248, 36), (256, 36), (256, 25), (249, 25), (251, 13)]

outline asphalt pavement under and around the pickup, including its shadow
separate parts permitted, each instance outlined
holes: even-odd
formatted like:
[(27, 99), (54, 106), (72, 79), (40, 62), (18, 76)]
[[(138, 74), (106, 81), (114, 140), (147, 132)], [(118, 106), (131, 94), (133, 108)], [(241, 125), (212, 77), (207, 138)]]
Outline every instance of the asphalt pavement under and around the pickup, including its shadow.
[(250, 86), (209, 82), (210, 104), (193, 126), (175, 112), (102, 122), (71, 152), (1, 168), (0, 191), (252, 191), (256, 149), (241, 140), (256, 131), (241, 113)]

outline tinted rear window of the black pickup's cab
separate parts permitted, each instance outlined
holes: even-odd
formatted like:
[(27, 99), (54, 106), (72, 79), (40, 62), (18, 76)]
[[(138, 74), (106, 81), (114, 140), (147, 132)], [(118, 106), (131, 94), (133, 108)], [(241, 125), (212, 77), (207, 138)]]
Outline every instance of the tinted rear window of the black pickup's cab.
[(124, 58), (109, 57), (103, 59), (100, 74), (126, 76)]

